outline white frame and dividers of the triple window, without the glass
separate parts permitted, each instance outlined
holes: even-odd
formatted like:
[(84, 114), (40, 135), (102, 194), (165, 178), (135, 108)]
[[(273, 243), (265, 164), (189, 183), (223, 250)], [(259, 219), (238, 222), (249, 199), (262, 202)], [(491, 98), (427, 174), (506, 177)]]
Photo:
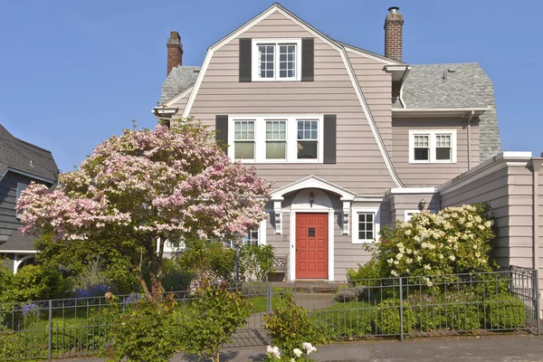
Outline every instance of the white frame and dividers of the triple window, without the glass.
[[(301, 115), (230, 115), (228, 117), (228, 139), (231, 145), (228, 148), (228, 156), (234, 159), (235, 142), (235, 122), (243, 120), (254, 121), (254, 158), (238, 159), (242, 163), (322, 163), (323, 142), (324, 137), (322, 130), (323, 115), (322, 114), (301, 114)], [(298, 158), (298, 121), (313, 121), (316, 122), (317, 138), (310, 139), (317, 143), (317, 158)], [(266, 143), (276, 142), (277, 140), (267, 139), (267, 122), (268, 121), (284, 121), (285, 122), (285, 139), (286, 142), (286, 157), (285, 158), (266, 158)], [(271, 134), (281, 136), (279, 131), (273, 131)], [(271, 135), (270, 134), (270, 135)], [(275, 136), (273, 136), (275, 137)], [(246, 141), (246, 140), (241, 140)], [(305, 140), (304, 140), (305, 141)]]

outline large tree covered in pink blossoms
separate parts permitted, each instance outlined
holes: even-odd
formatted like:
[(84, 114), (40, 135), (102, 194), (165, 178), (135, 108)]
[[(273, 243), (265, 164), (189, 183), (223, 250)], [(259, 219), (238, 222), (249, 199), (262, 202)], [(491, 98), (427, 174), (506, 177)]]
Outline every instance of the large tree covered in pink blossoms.
[(32, 184), (16, 205), (24, 233), (62, 243), (107, 241), (129, 256), (149, 294), (162, 276), (167, 240), (228, 239), (264, 217), (270, 186), (232, 162), (214, 133), (187, 119), (168, 129), (125, 129), (94, 149), (54, 190)]

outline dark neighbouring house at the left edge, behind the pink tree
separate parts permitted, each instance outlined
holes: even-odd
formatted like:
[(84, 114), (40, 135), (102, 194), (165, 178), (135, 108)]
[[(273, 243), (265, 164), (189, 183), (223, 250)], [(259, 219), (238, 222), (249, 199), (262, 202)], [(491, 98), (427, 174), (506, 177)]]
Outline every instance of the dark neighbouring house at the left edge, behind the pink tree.
[(53, 186), (58, 175), (51, 151), (15, 138), (0, 125), (0, 256), (14, 272), (36, 254), (35, 237), (18, 230), (23, 223), (15, 211), (17, 198), (32, 181)]

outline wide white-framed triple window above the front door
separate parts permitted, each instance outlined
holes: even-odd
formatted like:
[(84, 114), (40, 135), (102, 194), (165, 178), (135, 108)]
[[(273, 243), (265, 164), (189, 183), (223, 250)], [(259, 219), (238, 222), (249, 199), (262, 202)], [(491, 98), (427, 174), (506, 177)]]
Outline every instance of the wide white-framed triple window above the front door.
[(229, 116), (228, 156), (243, 163), (322, 163), (323, 115)]

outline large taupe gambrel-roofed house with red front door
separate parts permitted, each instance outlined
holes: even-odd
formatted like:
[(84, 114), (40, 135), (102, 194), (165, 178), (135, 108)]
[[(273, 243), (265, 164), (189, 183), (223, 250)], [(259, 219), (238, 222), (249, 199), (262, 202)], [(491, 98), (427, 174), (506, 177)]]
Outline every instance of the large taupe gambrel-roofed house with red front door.
[(155, 114), (201, 120), (274, 182), (269, 220), (250, 238), (286, 257), (288, 280), (344, 281), (382, 225), (482, 201), (498, 216), (500, 264), (541, 265), (541, 159), (502, 152), (479, 64), (404, 62), (403, 25), (389, 8), (384, 56), (279, 4), (212, 44), (201, 66), (183, 65), (179, 33), (167, 40)]

